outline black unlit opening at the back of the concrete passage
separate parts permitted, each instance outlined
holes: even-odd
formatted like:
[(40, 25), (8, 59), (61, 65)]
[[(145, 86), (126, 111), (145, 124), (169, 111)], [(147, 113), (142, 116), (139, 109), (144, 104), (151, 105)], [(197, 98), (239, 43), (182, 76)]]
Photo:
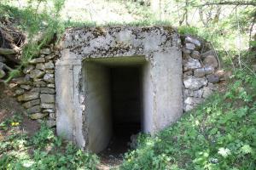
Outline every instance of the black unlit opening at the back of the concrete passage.
[(105, 161), (121, 161), (130, 149), (132, 138), (142, 129), (142, 66), (110, 67), (109, 75), (113, 133), (107, 149), (100, 155)]

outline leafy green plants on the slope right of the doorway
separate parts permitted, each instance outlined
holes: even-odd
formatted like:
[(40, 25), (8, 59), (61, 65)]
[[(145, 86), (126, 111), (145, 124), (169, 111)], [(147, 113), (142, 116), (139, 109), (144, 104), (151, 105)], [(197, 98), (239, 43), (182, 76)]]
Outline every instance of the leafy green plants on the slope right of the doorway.
[(140, 136), (120, 169), (255, 169), (255, 101), (255, 77), (237, 71), (224, 94), (154, 137)]

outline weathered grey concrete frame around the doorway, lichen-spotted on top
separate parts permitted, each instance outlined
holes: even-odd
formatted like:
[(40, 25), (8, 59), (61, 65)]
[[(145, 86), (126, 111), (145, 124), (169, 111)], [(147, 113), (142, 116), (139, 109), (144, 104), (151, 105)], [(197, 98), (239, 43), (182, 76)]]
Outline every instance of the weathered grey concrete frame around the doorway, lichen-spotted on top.
[[(93, 122), (90, 120), (94, 120), (91, 119), (90, 112), (96, 114), (94, 115), (96, 117), (105, 116), (108, 120), (108, 116), (103, 113), (103, 110), (108, 110), (107, 98), (104, 97), (107, 96), (106, 87), (108, 86), (99, 86), (107, 83), (108, 75), (102, 71), (102, 68), (98, 68), (94, 70), (96, 76), (91, 77), (91, 80), (88, 77), (82, 77), (83, 59), (119, 66), (133, 65), (134, 61), (137, 63), (146, 61), (142, 78), (144, 132), (154, 134), (177, 121), (181, 116), (183, 112), (182, 54), (180, 39), (171, 27), (71, 29), (62, 38), (60, 52), (61, 57), (55, 63), (57, 132), (58, 134), (66, 132), (66, 138), (73, 139), (79, 146), (85, 149), (92, 148), (90, 143), (96, 141), (96, 134), (99, 134), (98, 130), (103, 127), (106, 127), (107, 131), (102, 131), (103, 142), (98, 143), (97, 146), (103, 148), (110, 136), (108, 125), (100, 118), (96, 118), (96, 121), (90, 124)], [(73, 73), (62, 69), (60, 65), (66, 65), (66, 69), (73, 68), (71, 70)], [(64, 76), (61, 74), (62, 71), (68, 74)], [(94, 73), (87, 76), (92, 75)], [(62, 78), (66, 80), (61, 81)], [(88, 84), (96, 88), (83, 88)], [(70, 90), (67, 94), (61, 91), (65, 87)], [(104, 95), (98, 96), (96, 94), (98, 91)], [(73, 98), (69, 95), (73, 95)], [(62, 122), (65, 122), (65, 125), (62, 125)], [(93, 126), (93, 131), (90, 125)], [(94, 134), (90, 136), (90, 132)], [(108, 136), (103, 137), (104, 134)]]

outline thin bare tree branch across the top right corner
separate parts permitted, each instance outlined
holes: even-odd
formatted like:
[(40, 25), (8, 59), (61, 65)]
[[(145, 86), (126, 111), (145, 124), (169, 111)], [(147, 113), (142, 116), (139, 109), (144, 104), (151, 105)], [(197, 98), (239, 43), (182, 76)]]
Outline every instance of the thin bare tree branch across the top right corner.
[(233, 1), (224, 1), (224, 2), (218, 2), (218, 3), (204, 3), (201, 5), (196, 5), (195, 7), (202, 7), (202, 6), (209, 6), (209, 5), (236, 5), (236, 6), (256, 6), (256, 2), (253, 1), (239, 1), (239, 2), (233, 2)]

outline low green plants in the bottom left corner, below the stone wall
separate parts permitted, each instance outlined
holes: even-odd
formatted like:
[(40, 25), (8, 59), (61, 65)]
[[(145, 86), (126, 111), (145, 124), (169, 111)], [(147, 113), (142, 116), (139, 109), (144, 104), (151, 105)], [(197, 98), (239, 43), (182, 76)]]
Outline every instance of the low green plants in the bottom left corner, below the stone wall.
[(96, 169), (95, 155), (63, 143), (44, 125), (32, 137), (17, 132), (21, 121), (14, 116), (0, 124), (1, 130), (11, 133), (0, 143), (0, 169)]

